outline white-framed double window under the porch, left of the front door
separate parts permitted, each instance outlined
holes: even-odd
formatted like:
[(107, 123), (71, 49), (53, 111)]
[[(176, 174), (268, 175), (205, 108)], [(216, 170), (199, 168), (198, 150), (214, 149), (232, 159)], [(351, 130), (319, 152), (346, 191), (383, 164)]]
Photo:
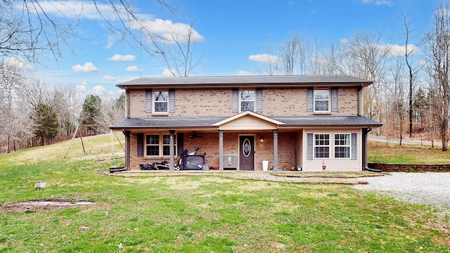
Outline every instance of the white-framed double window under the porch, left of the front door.
[[(146, 156), (169, 156), (170, 135), (169, 134), (147, 134)], [(174, 136), (174, 155), (176, 155), (176, 136)]]

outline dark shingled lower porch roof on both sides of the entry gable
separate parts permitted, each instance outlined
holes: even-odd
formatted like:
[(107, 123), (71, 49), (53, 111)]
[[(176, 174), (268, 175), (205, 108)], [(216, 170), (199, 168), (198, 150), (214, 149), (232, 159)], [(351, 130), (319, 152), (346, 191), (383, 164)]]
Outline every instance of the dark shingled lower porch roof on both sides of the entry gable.
[[(127, 118), (117, 124), (110, 126), (111, 129), (189, 129), (205, 128), (211, 129), (212, 124), (227, 119), (228, 117), (148, 117)], [(273, 116), (285, 125), (285, 127), (307, 127), (307, 126), (382, 126), (382, 124), (368, 119), (364, 116)], [(214, 126), (217, 127), (217, 126)]]

